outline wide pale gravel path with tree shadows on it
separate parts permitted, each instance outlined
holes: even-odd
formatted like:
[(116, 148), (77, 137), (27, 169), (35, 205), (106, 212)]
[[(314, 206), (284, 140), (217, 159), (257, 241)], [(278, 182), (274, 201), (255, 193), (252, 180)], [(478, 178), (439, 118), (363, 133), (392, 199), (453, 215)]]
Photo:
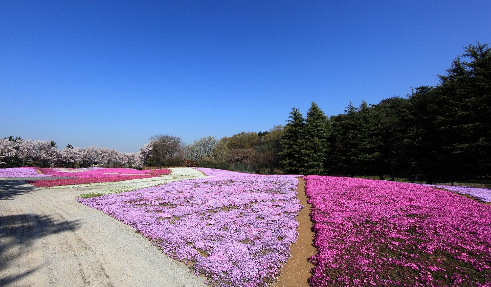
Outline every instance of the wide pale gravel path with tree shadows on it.
[(0, 286), (206, 286), (79, 194), (0, 180)]

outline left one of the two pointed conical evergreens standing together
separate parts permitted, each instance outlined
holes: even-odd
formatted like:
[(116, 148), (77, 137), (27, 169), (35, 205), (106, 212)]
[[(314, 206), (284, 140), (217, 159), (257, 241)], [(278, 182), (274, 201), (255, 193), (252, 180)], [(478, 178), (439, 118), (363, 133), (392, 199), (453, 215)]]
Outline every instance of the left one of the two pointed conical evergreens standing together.
[(305, 172), (305, 169), (301, 166), (301, 147), (304, 141), (303, 128), (305, 119), (298, 108), (293, 108), (288, 118), (288, 123), (283, 129), (283, 138), (281, 139), (283, 151), (279, 153), (282, 158), (280, 164), (287, 174), (302, 174)]

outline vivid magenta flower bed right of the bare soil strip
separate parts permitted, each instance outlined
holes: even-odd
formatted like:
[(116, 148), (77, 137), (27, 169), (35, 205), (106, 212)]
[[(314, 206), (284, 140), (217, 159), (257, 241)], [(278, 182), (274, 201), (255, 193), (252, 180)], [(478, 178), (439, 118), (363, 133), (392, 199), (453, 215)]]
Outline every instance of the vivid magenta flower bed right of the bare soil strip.
[(307, 176), (313, 286), (491, 286), (491, 206), (422, 185)]

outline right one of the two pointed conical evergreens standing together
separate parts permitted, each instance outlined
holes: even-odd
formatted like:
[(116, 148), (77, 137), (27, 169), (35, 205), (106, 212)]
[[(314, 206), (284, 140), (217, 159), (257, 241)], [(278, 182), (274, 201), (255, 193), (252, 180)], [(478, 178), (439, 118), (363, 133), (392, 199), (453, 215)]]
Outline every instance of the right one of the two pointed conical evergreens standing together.
[(326, 174), (326, 163), (330, 152), (328, 142), (330, 123), (324, 112), (314, 102), (307, 112), (303, 135), (301, 166), (305, 170), (305, 174)]

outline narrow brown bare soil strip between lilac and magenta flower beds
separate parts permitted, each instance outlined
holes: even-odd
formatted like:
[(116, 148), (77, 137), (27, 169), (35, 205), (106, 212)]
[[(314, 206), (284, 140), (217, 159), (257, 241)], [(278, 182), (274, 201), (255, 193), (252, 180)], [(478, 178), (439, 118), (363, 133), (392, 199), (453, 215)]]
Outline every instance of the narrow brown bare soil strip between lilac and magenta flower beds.
[(297, 227), (298, 240), (290, 248), (292, 256), (288, 259), (281, 270), (275, 287), (283, 286), (308, 286), (308, 278), (312, 275), (310, 270), (314, 268), (313, 264), (308, 262), (308, 258), (315, 255), (317, 250), (314, 244), (314, 232), (312, 227), (314, 223), (310, 221), (310, 207), (305, 195), (305, 181), (298, 179), (297, 196), (300, 204), (304, 206), (297, 216), (299, 226)]

